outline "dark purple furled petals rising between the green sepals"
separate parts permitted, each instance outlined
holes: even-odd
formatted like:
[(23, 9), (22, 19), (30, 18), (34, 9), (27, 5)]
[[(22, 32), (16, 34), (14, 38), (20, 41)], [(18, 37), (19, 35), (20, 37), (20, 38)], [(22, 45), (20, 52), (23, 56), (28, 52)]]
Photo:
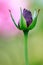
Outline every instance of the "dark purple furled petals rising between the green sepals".
[(24, 9), (23, 10), (23, 16), (26, 20), (27, 27), (32, 23), (32, 14), (29, 10)]

